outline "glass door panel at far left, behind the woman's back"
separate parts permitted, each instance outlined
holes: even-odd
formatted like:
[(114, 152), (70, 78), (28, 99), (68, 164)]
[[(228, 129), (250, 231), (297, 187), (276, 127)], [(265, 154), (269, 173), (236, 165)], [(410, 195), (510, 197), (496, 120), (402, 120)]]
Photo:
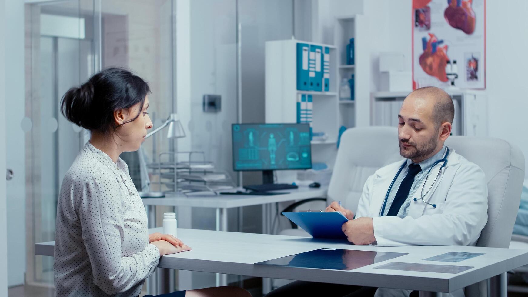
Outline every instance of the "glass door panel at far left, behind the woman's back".
[(25, 22), (26, 283), (52, 284), (53, 258), (35, 256), (34, 243), (54, 240), (60, 184), (85, 138), (59, 102), (95, 69), (93, 2), (27, 5)]

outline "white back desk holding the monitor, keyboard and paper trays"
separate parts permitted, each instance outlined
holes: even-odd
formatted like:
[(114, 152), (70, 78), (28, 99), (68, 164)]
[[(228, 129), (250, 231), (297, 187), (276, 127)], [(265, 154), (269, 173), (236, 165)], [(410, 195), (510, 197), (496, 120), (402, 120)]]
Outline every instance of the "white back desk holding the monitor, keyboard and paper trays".
[[(243, 188), (236, 188), (225, 191), (237, 191)], [(163, 198), (142, 198), (145, 205), (148, 217), (148, 226), (150, 228), (156, 227), (156, 206), (172, 206), (178, 209), (178, 226), (184, 228), (192, 228), (191, 226), (191, 207), (209, 207), (216, 208), (216, 231), (228, 231), (228, 208), (237, 208), (251, 205), (262, 205), (262, 233), (271, 234), (273, 221), (271, 206), (274, 203), (286, 202), (292, 200), (302, 200), (308, 198), (324, 198), (326, 197), (327, 187), (309, 188), (299, 187), (297, 189), (279, 190), (277, 192), (286, 192), (287, 194), (271, 195), (271, 196), (256, 196), (256, 195), (215, 195), (209, 192), (199, 192), (177, 195), (167, 195)], [(178, 237), (180, 234), (178, 234)], [(236, 274), (236, 273), (235, 273)], [(240, 274), (238, 274), (240, 275)], [(190, 274), (181, 273), (178, 276), (178, 282), (190, 282)], [(269, 280), (265, 280), (265, 288), (271, 288)], [(154, 294), (157, 283), (156, 274), (149, 277), (148, 291)], [(227, 285), (227, 275), (217, 274), (216, 285)]]

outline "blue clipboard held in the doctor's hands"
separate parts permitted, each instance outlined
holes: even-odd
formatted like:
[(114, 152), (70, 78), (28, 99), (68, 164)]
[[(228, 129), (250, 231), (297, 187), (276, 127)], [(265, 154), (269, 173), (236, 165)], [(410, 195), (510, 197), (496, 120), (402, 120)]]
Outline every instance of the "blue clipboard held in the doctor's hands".
[(340, 212), (282, 213), (313, 237), (346, 238), (341, 226), (348, 219)]

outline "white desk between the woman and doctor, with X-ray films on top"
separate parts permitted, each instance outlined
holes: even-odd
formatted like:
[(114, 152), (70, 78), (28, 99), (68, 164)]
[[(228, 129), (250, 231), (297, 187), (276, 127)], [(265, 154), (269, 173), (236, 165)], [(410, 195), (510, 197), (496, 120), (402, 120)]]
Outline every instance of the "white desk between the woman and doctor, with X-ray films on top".
[[(149, 230), (151, 233), (159, 231), (161, 231), (161, 228)], [(163, 256), (159, 261), (158, 267), (257, 277), (274, 277), (289, 280), (419, 290), (421, 291), (420, 295), (424, 296), (436, 295), (436, 293), (431, 292), (452, 292), (528, 264), (528, 251), (508, 248), (473, 246), (354, 246), (346, 241), (314, 239), (311, 237), (195, 229), (178, 229), (178, 236), (186, 244), (190, 245), (193, 250)], [(53, 244), (53, 242), (35, 244), (35, 254), (52, 256)], [(253, 263), (324, 247), (409, 254), (350, 271), (253, 265)], [(485, 255), (457, 263), (422, 260), (427, 257), (452, 251), (484, 253)], [(461, 265), (474, 266), (474, 268), (458, 274), (373, 268), (390, 262)], [(492, 296), (503, 296), (500, 292), (493, 293)]]

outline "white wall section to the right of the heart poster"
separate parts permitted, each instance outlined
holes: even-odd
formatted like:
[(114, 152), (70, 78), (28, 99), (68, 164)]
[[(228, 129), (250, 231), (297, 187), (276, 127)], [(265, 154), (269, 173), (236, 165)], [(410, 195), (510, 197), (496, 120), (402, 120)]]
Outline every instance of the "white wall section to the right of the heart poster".
[[(528, 159), (528, 1), (486, 1), (489, 136), (520, 147)], [(525, 170), (526, 172), (526, 170)]]

